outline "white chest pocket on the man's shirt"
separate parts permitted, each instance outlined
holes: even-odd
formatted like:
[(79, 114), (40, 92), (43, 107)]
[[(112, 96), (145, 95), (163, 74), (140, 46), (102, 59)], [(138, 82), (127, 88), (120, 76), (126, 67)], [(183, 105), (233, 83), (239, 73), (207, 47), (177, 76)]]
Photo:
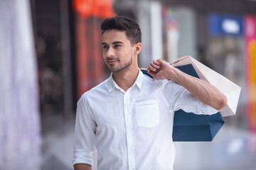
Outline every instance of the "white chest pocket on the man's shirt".
[(159, 106), (156, 100), (136, 103), (135, 112), (138, 126), (152, 128), (159, 124)]

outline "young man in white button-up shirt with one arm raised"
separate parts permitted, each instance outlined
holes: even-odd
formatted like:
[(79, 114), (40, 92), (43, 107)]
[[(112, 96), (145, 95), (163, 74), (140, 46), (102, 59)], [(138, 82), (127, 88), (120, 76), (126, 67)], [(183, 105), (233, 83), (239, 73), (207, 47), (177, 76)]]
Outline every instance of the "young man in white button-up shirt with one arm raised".
[(103, 21), (103, 58), (109, 79), (78, 101), (75, 125), (75, 170), (91, 169), (97, 151), (99, 170), (173, 169), (174, 111), (213, 114), (226, 97), (164, 61), (153, 61), (144, 75), (137, 56), (142, 50), (139, 25), (130, 18)]

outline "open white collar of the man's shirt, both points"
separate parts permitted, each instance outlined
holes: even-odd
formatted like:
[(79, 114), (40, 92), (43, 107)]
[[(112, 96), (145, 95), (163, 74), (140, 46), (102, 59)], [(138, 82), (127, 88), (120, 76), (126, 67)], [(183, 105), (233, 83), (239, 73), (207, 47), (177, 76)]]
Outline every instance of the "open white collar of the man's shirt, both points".
[[(114, 90), (114, 88), (117, 88), (117, 89), (121, 89), (117, 83), (114, 81), (113, 79), (113, 76), (112, 76), (113, 73), (110, 74), (110, 78), (108, 79), (108, 92), (110, 93), (111, 91)], [(142, 71), (139, 69), (139, 74), (138, 74), (138, 77), (137, 79), (135, 80), (134, 82), (134, 85), (136, 84), (138, 87), (139, 87), (139, 90), (142, 89), (142, 82), (143, 82), (143, 79), (144, 79), (144, 74), (142, 73)], [(134, 86), (133, 85), (133, 86)]]

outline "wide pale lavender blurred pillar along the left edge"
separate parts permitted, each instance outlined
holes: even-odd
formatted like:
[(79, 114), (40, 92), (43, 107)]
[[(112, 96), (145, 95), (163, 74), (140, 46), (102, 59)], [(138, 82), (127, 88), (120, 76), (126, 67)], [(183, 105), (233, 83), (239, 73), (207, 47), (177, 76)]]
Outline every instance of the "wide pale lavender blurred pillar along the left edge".
[(0, 169), (41, 169), (30, 1), (1, 1), (0, 23)]

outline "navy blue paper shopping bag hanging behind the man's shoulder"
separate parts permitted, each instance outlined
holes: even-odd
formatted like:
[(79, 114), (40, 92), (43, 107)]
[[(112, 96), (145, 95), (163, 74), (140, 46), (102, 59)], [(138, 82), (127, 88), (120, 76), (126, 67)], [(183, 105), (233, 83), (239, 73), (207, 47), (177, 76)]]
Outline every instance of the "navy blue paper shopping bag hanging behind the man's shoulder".
[[(192, 64), (177, 67), (177, 69), (199, 78)], [(142, 72), (150, 76), (146, 70), (142, 70)], [(178, 110), (174, 113), (173, 140), (212, 141), (223, 124), (224, 120), (219, 112), (214, 115), (196, 115)]]

